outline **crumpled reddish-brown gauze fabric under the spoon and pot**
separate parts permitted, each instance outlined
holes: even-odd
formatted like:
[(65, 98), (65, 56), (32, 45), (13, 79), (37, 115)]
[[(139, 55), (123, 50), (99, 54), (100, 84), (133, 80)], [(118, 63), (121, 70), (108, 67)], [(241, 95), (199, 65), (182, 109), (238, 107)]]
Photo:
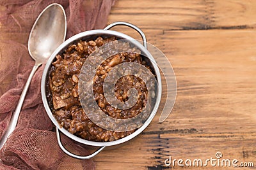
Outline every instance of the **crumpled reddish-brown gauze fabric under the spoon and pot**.
[[(0, 137), (8, 126), (20, 94), (35, 64), (28, 53), (28, 37), (46, 6), (59, 3), (67, 15), (67, 38), (106, 26), (114, 0), (1, 0), (0, 1)], [(92, 159), (73, 159), (63, 153), (54, 125), (42, 104), (40, 82), (44, 65), (36, 71), (22, 106), (17, 128), (0, 150), (0, 169), (95, 169)], [(61, 136), (70, 152), (89, 152)]]

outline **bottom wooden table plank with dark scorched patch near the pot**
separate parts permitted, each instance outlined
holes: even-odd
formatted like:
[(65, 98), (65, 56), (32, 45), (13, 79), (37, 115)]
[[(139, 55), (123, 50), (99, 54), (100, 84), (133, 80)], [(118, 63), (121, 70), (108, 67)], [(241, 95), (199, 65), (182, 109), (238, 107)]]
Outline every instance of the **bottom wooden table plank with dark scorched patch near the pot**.
[[(143, 134), (127, 145), (115, 150), (105, 150), (95, 157), (97, 169), (165, 169), (164, 160), (172, 159), (211, 159), (216, 152), (223, 159), (237, 159), (240, 162), (253, 162), (256, 157), (256, 135), (212, 136), (211, 134), (188, 135), (183, 132), (173, 134)], [(243, 145), (239, 145), (243, 143)], [(228, 145), (228, 146), (227, 146)], [(239, 151), (239, 152), (234, 152)], [(195, 168), (195, 167), (194, 167)], [(175, 166), (175, 169), (182, 167)], [(206, 169), (220, 169), (207, 166)]]

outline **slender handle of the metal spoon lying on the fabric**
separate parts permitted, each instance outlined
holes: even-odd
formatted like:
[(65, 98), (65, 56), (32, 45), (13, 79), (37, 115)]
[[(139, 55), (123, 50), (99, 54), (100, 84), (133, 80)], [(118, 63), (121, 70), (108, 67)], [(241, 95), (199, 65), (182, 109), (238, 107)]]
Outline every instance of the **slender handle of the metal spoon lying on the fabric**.
[(0, 141), (0, 150), (1, 148), (3, 148), (4, 146), (4, 143), (7, 141), (8, 137), (10, 136), (10, 134), (12, 134), (12, 132), (14, 131), (16, 125), (17, 125), (17, 122), (18, 122), (18, 119), (19, 119), (19, 115), (20, 115), (20, 110), (22, 108), (22, 104), (24, 102), (24, 99), (26, 97), (26, 94), (27, 94), (27, 91), (29, 89), (29, 85), (30, 85), (30, 82), (33, 78), (33, 75), (35, 74), (36, 72), (36, 69), (38, 69), (40, 65), (39, 64), (35, 64), (35, 66), (33, 67), (31, 73), (29, 74), (29, 77), (28, 77), (28, 80), (24, 86), (24, 89), (22, 90), (22, 93), (20, 95), (20, 99), (19, 99), (19, 102), (17, 104), (17, 107), (15, 109), (15, 111), (13, 112), (13, 115), (12, 115), (12, 118), (9, 122), (9, 125), (6, 129), (6, 131), (4, 132), (2, 138), (1, 138), (1, 141)]

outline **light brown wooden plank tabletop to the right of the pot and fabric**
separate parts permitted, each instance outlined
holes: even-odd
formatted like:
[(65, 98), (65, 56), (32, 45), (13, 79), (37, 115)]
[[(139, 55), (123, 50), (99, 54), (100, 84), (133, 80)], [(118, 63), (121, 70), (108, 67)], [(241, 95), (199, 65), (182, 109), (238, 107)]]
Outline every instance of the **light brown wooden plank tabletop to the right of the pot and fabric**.
[[(97, 169), (167, 169), (169, 156), (205, 160), (216, 159), (216, 152), (256, 168), (255, 16), (253, 0), (117, 1), (109, 24), (138, 25), (166, 54), (177, 78), (177, 99), (163, 124), (157, 113), (131, 143), (97, 155)], [(113, 29), (140, 39), (126, 27)]]

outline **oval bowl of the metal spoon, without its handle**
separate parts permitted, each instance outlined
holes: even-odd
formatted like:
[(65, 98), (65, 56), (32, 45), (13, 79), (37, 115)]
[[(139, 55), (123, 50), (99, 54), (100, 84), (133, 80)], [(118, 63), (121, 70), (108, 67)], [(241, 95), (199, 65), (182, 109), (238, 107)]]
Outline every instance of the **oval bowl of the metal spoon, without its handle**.
[(66, 16), (60, 4), (51, 4), (38, 16), (28, 39), (28, 52), (42, 64), (66, 37)]

